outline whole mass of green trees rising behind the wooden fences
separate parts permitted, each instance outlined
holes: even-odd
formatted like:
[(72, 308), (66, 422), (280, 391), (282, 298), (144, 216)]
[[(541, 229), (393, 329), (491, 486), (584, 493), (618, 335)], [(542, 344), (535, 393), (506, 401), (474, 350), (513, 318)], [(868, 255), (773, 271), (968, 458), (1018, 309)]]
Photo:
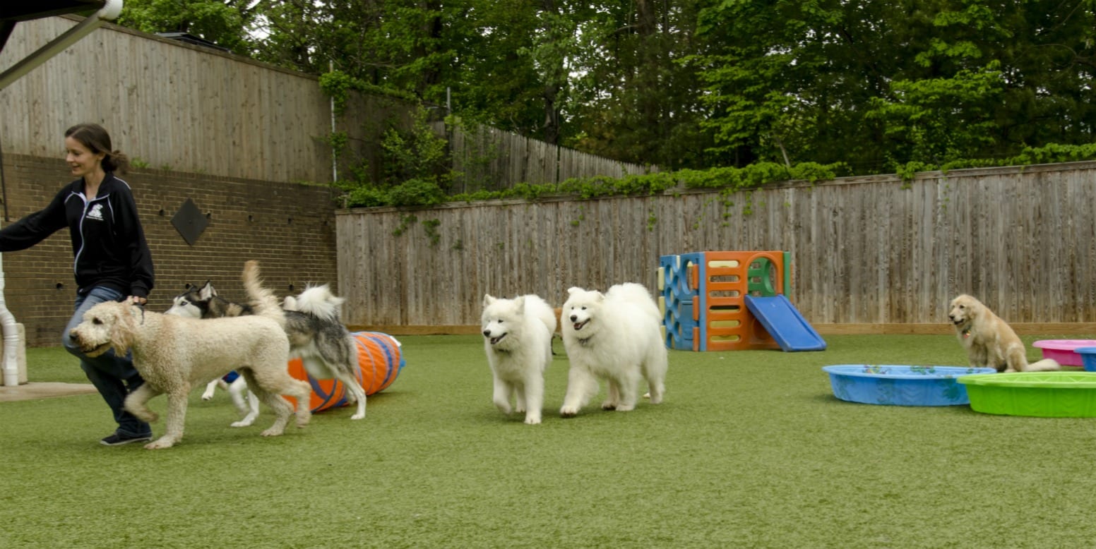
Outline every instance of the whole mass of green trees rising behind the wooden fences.
[(127, 0), (121, 22), (671, 170), (1096, 141), (1094, 0)]

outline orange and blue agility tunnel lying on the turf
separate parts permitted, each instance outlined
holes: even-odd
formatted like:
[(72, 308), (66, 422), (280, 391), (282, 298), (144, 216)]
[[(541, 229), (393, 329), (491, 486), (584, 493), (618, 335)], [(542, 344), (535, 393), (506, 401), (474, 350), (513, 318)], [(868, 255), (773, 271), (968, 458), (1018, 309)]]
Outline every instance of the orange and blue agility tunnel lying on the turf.
[[(365, 394), (383, 391), (396, 381), (403, 369), (403, 353), (396, 338), (380, 332), (354, 332), (354, 343), (357, 346), (357, 380), (365, 389)], [(312, 412), (322, 412), (332, 408), (346, 405), (346, 388), (342, 381), (334, 379), (316, 379), (308, 375), (300, 358), (289, 361), (289, 375), (308, 381), (312, 386), (309, 405)], [(297, 400), (286, 397), (286, 400), (297, 405)]]

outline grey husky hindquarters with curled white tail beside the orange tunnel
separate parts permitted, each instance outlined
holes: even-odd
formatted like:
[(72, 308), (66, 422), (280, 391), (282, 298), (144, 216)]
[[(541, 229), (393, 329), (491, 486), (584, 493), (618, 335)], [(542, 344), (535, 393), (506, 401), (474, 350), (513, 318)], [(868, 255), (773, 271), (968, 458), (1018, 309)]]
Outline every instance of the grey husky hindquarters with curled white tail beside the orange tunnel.
[(352, 420), (365, 418), (365, 389), (357, 379), (357, 350), (354, 338), (339, 320), (345, 301), (327, 284), (309, 286), (299, 296), (286, 297), (285, 332), (289, 356), (299, 357), (308, 374), (318, 379), (338, 379), (346, 388), (346, 401), (356, 402)]

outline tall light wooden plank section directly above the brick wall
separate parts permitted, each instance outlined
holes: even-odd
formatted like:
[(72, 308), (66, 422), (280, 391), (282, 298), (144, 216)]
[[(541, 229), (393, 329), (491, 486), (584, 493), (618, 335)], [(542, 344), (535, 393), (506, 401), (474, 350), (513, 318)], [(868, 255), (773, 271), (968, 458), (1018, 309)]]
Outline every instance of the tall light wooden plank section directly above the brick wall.
[[(78, 21), (19, 23), (0, 70)], [(58, 158), (78, 122), (103, 124), (149, 168), (331, 181), (330, 100), (315, 77), (111, 24), (0, 91), (5, 152)]]

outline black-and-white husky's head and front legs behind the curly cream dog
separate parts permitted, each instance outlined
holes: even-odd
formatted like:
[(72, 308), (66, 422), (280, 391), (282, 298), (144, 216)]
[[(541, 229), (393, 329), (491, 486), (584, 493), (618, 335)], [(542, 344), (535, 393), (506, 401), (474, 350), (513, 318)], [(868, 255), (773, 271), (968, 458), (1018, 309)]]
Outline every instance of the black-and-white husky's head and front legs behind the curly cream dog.
[[(195, 319), (217, 319), (241, 317), (252, 314), (253, 312), (250, 305), (237, 304), (218, 296), (216, 288), (213, 287), (213, 283), (206, 281), (202, 287), (187, 284), (186, 289), (175, 296), (171, 308), (164, 311), (164, 314), (176, 314)], [(232, 403), (236, 404), (236, 409), (243, 416), (242, 420), (232, 423), (232, 426), (246, 427), (254, 423), (255, 418), (259, 416), (259, 398), (248, 390), (248, 382), (243, 380), (243, 377), (239, 375), (233, 376), (233, 373), (230, 371), (224, 378), (209, 381), (205, 392), (202, 393), (202, 400), (213, 399), (214, 390), (218, 386), (228, 389), (228, 393), (232, 398)], [(247, 402), (244, 402), (244, 394), (247, 394)]]

